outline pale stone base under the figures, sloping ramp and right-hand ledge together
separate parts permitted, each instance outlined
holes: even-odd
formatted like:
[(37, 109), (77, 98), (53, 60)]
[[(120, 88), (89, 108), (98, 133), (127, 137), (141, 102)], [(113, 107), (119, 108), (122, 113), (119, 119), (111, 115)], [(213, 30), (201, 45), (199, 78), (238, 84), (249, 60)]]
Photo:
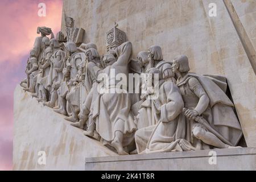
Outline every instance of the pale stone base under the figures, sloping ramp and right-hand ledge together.
[(70, 123), (17, 86), (14, 170), (256, 170), (256, 148), (118, 156)]

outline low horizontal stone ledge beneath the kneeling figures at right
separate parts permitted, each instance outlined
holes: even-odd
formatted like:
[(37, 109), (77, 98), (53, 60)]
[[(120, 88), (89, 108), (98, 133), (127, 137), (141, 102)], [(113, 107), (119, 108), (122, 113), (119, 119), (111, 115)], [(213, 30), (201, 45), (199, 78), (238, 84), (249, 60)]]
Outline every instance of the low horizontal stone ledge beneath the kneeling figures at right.
[(256, 148), (110, 156), (85, 161), (85, 170), (93, 171), (256, 170)]

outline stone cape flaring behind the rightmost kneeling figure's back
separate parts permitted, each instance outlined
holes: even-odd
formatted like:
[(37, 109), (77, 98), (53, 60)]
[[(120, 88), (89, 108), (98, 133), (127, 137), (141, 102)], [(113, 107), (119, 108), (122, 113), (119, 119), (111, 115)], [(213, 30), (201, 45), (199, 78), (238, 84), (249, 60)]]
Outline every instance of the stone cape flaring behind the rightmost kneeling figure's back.
[(242, 137), (242, 129), (234, 113), (234, 105), (225, 94), (226, 81), (223, 77), (217, 79), (217, 77), (210, 78), (209, 76), (188, 73), (183, 80), (177, 81), (177, 86), (187, 84), (188, 80), (193, 77), (199, 80), (210, 100), (210, 116), (205, 119), (211, 120), (208, 122), (213, 129), (217, 130), (218, 133), (236, 146)]

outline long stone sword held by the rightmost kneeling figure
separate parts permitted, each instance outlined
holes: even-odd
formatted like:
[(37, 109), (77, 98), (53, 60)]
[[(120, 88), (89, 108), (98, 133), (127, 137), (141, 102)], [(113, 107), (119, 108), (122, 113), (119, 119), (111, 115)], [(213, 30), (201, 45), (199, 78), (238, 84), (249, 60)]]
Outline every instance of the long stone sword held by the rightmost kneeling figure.
[[(187, 108), (183, 108), (183, 112), (185, 113), (185, 111), (187, 111)], [(210, 133), (213, 133), (216, 137), (218, 137), (220, 140), (222, 140), (222, 142), (229, 144), (230, 146), (233, 146), (232, 143), (229, 142), (229, 140), (225, 139), (220, 133), (218, 133), (218, 131), (216, 131), (215, 129), (213, 129), (212, 126), (209, 125), (209, 123), (200, 116), (197, 116), (195, 118), (192, 118), (194, 121), (200, 123), (201, 125), (203, 125), (208, 131), (210, 131)]]

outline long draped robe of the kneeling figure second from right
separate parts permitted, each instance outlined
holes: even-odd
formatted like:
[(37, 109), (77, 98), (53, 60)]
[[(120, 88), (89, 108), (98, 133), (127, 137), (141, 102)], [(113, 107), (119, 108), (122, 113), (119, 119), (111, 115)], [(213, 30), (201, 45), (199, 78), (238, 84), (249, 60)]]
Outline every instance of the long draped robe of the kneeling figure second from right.
[(191, 150), (191, 144), (184, 140), (185, 123), (181, 115), (184, 104), (179, 88), (170, 81), (164, 82), (159, 88), (158, 101), (160, 113), (156, 125), (135, 133), (138, 154)]

